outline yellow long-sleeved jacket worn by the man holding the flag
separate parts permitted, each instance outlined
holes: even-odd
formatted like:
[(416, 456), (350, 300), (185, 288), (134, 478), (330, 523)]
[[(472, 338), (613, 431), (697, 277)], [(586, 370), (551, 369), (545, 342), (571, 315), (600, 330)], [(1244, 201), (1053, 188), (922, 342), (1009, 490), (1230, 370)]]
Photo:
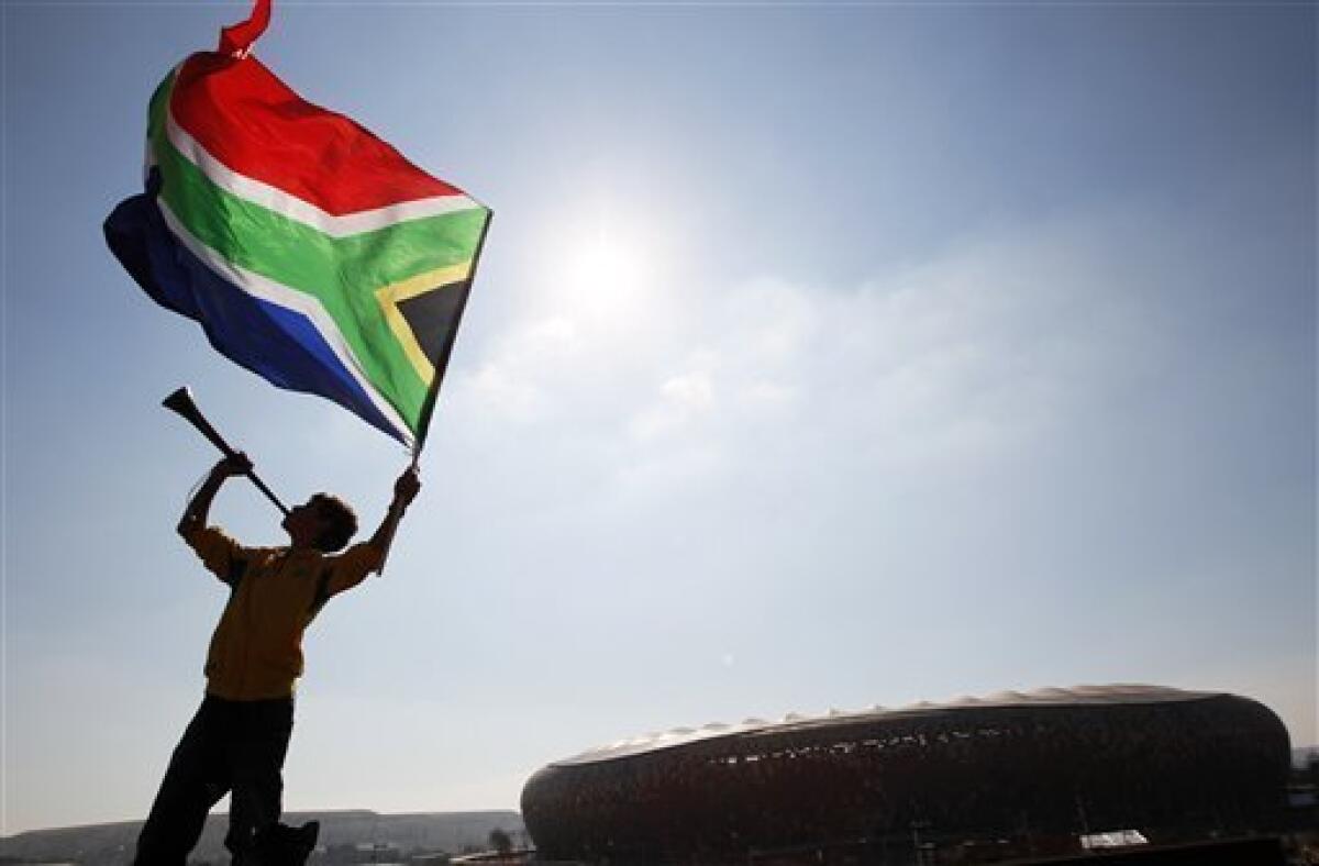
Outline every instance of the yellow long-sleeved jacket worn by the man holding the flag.
[(202, 563), (230, 585), (230, 601), (206, 655), (206, 691), (228, 700), (289, 697), (302, 675), (302, 633), (331, 596), (380, 564), (361, 543), (342, 554), (243, 547), (207, 526), (183, 534)]

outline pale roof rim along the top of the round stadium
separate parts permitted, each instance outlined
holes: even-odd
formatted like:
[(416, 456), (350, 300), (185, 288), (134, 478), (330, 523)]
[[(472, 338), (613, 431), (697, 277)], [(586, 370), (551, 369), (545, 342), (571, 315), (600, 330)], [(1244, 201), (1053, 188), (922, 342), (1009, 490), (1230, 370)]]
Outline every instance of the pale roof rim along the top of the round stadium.
[(1072, 688), (1041, 688), (1030, 692), (995, 692), (984, 697), (963, 696), (943, 703), (919, 701), (906, 707), (885, 708), (880, 705), (859, 710), (831, 709), (822, 716), (802, 716), (787, 713), (778, 721), (765, 718), (745, 718), (736, 724), (711, 722), (702, 728), (674, 728), (619, 739), (616, 742), (588, 749), (579, 755), (553, 762), (551, 767), (595, 763), (628, 758), (646, 751), (673, 749), (702, 739), (732, 737), (739, 734), (768, 734), (816, 728), (838, 722), (865, 722), (882, 718), (911, 716), (936, 716), (989, 708), (1013, 707), (1078, 707), (1095, 704), (1165, 704), (1174, 701), (1194, 701), (1221, 697), (1225, 692), (1191, 692), (1163, 685), (1144, 685), (1138, 683), (1115, 683), (1111, 685), (1075, 685)]

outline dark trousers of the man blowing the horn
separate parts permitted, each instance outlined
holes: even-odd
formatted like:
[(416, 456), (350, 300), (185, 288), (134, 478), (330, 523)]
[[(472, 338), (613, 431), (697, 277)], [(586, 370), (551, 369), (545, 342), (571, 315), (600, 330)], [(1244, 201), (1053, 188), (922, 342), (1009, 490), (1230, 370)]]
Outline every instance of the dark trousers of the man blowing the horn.
[(230, 791), (224, 846), (235, 863), (248, 859), (257, 830), (280, 820), (280, 774), (291, 733), (291, 697), (230, 701), (207, 695), (170, 758), (137, 837), (135, 866), (183, 866), (207, 812)]

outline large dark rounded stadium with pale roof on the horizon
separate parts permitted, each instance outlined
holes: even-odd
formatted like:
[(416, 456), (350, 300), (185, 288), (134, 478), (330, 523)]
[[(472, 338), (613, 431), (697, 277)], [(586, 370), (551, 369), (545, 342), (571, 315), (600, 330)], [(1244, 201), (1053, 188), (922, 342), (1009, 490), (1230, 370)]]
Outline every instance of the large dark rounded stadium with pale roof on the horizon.
[(1009, 692), (623, 741), (539, 770), (522, 815), (545, 859), (1066, 854), (1111, 830), (1268, 832), (1289, 751), (1282, 721), (1235, 695)]

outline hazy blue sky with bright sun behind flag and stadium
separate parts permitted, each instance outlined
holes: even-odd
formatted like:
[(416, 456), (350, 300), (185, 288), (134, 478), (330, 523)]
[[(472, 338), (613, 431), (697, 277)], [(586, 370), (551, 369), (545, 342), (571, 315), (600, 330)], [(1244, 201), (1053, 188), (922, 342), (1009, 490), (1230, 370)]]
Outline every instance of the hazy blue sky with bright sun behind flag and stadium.
[[(364, 523), (408, 455), (100, 224), (243, 4), (3, 4), (0, 834), (141, 819), (216, 455)], [(256, 53), (495, 220), (389, 567), (307, 634), (289, 809), (517, 808), (675, 726), (1075, 684), (1316, 730), (1316, 8), (281, 3)], [(278, 543), (227, 486), (216, 522)]]

